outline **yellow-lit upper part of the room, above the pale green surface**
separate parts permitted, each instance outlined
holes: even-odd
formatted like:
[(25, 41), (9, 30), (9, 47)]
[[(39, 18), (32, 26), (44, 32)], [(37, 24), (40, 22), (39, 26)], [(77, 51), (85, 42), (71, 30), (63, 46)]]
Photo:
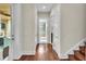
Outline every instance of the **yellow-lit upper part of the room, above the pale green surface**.
[(11, 38), (10, 4), (0, 4), (0, 37)]

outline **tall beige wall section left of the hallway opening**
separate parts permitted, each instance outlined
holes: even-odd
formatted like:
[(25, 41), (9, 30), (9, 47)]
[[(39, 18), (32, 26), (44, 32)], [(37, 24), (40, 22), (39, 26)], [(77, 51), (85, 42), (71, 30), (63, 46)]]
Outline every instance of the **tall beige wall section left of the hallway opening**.
[(22, 4), (23, 54), (35, 54), (35, 5)]

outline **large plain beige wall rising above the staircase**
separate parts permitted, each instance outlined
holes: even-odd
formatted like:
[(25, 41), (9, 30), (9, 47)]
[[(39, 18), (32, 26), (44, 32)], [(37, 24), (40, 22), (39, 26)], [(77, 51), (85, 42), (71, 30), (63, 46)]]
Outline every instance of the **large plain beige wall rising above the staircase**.
[(85, 4), (61, 4), (61, 53), (86, 37)]

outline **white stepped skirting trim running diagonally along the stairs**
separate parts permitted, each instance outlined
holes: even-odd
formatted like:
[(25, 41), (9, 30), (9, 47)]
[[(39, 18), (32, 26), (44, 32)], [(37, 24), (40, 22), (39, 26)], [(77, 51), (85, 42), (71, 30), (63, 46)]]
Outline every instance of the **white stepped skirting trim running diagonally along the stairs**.
[(79, 40), (75, 46), (73, 46), (69, 51), (66, 51), (64, 54), (61, 53), (61, 59), (67, 59), (69, 54), (74, 54), (74, 50), (78, 50), (78, 46), (84, 46), (84, 42), (86, 41), (86, 37), (82, 40)]

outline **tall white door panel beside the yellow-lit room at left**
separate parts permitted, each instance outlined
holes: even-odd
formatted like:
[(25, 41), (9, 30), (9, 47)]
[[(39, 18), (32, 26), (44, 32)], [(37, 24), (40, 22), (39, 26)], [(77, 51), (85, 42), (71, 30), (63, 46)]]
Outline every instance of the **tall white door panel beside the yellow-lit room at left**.
[(12, 4), (12, 38), (14, 39), (11, 46), (10, 60), (19, 59), (22, 54), (22, 11), (21, 4)]

